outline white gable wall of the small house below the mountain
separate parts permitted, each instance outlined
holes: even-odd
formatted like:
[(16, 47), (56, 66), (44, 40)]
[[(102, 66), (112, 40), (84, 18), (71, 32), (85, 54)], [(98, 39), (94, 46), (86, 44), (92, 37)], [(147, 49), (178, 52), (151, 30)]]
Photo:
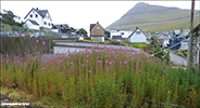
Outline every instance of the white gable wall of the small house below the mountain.
[(146, 36), (143, 35), (143, 32), (140, 31), (140, 33), (137, 35), (137, 33), (136, 33), (137, 31), (140, 31), (140, 30), (137, 29), (137, 30), (135, 31), (135, 33), (130, 36), (129, 42), (132, 42), (132, 43), (142, 43), (142, 42), (147, 42), (147, 38), (146, 38)]

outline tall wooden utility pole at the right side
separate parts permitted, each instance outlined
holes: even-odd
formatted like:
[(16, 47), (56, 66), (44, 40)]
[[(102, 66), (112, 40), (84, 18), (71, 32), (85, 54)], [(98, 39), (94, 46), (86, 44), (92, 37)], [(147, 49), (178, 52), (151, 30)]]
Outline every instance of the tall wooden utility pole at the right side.
[(189, 37), (189, 59), (188, 66), (190, 67), (192, 64), (192, 43), (193, 43), (193, 9), (195, 9), (195, 0), (191, 2), (191, 21), (190, 21), (190, 37)]

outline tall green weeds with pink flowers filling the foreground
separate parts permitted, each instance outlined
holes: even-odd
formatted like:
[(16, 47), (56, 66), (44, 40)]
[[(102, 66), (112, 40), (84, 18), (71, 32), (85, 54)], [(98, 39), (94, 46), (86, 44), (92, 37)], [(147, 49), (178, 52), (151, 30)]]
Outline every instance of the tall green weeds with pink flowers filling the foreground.
[(16, 84), (34, 100), (49, 96), (65, 107), (148, 107), (147, 100), (200, 106), (199, 70), (174, 69), (143, 52), (95, 46), (54, 56), (1, 54), (0, 64), (1, 85)]

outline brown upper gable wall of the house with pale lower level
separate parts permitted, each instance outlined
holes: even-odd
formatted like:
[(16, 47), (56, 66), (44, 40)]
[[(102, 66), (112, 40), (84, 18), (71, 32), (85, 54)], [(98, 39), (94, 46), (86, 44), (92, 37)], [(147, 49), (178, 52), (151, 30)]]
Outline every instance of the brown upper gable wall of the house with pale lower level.
[[(99, 27), (99, 29), (97, 29), (97, 27)], [(92, 29), (91, 29), (91, 37), (104, 37), (104, 29), (97, 24)]]

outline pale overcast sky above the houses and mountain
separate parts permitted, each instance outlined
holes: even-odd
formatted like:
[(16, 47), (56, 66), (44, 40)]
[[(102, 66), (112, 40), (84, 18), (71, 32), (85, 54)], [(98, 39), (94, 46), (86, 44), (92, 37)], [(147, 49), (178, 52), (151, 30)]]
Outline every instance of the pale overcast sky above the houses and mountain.
[[(105, 28), (138, 2), (191, 9), (191, 1), (1, 1), (1, 12), (3, 9), (12, 11), (24, 18), (32, 8), (38, 8), (49, 11), (53, 24), (68, 24), (89, 31), (90, 24), (99, 22)], [(200, 10), (199, 0), (195, 2), (195, 10)]]

